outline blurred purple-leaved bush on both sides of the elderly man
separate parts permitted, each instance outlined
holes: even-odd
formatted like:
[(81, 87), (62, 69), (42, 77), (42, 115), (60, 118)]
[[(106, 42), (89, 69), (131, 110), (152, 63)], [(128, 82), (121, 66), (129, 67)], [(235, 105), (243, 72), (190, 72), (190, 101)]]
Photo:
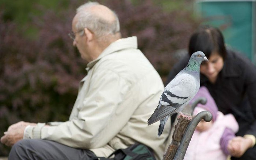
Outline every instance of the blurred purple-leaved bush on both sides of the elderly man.
[[(189, 11), (163, 12), (151, 1), (102, 1), (116, 11), (123, 37), (137, 36), (139, 49), (163, 80), (174, 64), (173, 52), (186, 48), (198, 22)], [(0, 13), (0, 136), (18, 121), (66, 121), (75, 102), (79, 81), (86, 75), (86, 62), (68, 37), (75, 8), (56, 13), (43, 9), (27, 25), (39, 29), (36, 39), (17, 32), (18, 24), (5, 22)], [(0, 145), (0, 156), (9, 147)]]

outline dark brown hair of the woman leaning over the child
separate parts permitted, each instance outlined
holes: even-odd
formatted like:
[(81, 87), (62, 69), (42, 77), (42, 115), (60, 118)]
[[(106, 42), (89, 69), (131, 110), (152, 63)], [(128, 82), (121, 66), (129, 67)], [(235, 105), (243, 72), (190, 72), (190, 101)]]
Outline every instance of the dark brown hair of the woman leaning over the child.
[(218, 28), (203, 26), (190, 37), (188, 53), (202, 51), (207, 58), (211, 53), (218, 52), (223, 59), (227, 55), (224, 38)]

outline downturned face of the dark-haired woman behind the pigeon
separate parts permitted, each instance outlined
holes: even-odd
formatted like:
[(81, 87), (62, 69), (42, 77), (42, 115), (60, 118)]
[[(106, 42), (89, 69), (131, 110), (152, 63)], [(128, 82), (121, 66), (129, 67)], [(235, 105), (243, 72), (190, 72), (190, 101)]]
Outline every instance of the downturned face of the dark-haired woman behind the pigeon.
[(200, 72), (205, 75), (211, 83), (215, 83), (218, 74), (223, 68), (224, 60), (216, 52), (213, 52), (208, 60), (209, 62), (204, 61), (201, 63)]

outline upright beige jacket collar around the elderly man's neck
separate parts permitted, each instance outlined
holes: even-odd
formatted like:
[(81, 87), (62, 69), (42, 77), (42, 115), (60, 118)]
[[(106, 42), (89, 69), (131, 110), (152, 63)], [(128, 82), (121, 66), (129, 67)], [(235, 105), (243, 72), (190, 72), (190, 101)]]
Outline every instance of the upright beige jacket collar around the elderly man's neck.
[(95, 60), (89, 62), (87, 64), (86, 70), (87, 72), (100, 60), (102, 57), (107, 56), (111, 53), (117, 52), (119, 50), (124, 50), (128, 48), (137, 49), (137, 37), (132, 36), (128, 38), (118, 39), (115, 42), (111, 43), (103, 52), (97, 57)]

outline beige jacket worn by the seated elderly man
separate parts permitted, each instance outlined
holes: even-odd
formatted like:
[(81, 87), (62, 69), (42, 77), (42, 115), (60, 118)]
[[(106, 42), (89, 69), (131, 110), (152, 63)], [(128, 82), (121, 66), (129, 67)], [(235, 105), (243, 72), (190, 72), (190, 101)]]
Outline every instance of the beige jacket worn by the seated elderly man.
[(69, 121), (39, 123), (25, 130), (25, 138), (41, 138), (74, 148), (90, 149), (97, 156), (134, 142), (151, 147), (162, 159), (170, 121), (157, 137), (159, 122), (147, 125), (164, 86), (159, 74), (137, 49), (137, 38), (119, 39), (88, 63)]

